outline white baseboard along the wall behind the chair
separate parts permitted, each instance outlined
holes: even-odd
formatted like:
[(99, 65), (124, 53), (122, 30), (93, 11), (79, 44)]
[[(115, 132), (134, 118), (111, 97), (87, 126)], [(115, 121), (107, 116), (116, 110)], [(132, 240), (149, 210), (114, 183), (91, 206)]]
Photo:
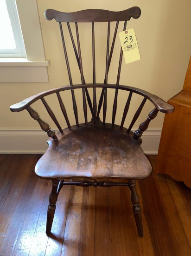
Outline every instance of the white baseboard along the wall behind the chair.
[[(157, 155), (161, 128), (149, 128), (142, 136), (146, 155)], [(43, 154), (48, 136), (40, 129), (0, 128), (0, 154)]]

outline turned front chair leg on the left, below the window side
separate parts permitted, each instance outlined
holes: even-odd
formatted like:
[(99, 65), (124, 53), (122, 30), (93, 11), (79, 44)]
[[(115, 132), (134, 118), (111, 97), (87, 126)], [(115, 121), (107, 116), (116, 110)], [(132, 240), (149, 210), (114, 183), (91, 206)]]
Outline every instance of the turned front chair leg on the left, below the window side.
[(46, 221), (46, 235), (47, 236), (50, 236), (50, 234), (51, 234), (52, 222), (53, 222), (54, 213), (56, 210), (58, 183), (59, 183), (59, 180), (52, 180), (52, 191), (49, 196), (49, 205), (48, 205), (47, 221)]

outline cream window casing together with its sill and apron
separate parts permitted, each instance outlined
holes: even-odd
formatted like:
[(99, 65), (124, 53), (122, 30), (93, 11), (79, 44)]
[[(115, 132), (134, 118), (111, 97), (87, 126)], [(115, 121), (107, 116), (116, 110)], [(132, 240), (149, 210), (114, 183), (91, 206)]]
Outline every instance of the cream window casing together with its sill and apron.
[(15, 0), (27, 58), (0, 58), (0, 82), (48, 82), (36, 0)]

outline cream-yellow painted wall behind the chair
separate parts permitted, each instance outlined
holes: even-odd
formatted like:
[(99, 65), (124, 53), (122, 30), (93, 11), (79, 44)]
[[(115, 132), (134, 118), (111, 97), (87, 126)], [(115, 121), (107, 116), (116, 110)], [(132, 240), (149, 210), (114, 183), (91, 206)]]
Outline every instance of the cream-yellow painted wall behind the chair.
[[(148, 90), (165, 100), (177, 94), (183, 87), (191, 54), (190, 0), (38, 0), (46, 59), (51, 61), (51, 65), (48, 67), (50, 82), (0, 83), (0, 128), (38, 128), (38, 123), (33, 121), (26, 111), (12, 113), (9, 111), (9, 106), (32, 94), (37, 94), (38, 92), (69, 83), (63, 60), (64, 56), (60, 54), (62, 52), (62, 45), (59, 27), (55, 20), (45, 20), (44, 11), (46, 9), (53, 8), (64, 12), (73, 12), (89, 8), (120, 11), (132, 6), (139, 6), (142, 11), (138, 20), (132, 19), (127, 23), (127, 28), (134, 27), (135, 29), (136, 36), (138, 37), (141, 60), (127, 65), (125, 65), (123, 60), (120, 83)], [(87, 28), (86, 26), (85, 29)], [(106, 33), (102, 32), (100, 24), (97, 25), (97, 28), (99, 28), (99, 32), (96, 34), (97, 37), (99, 37), (100, 34), (103, 35), (103, 37), (106, 36)], [(86, 31), (82, 34), (83, 32), (80, 29), (80, 32), (81, 37), (82, 35), (83, 37), (87, 36)], [(99, 43), (104, 50), (105, 45), (103, 41)], [(82, 45), (82, 53), (83, 56), (87, 56), (89, 53), (87, 42)], [(99, 55), (100, 59), (105, 63), (105, 56), (102, 56), (102, 50)], [(116, 58), (118, 62), (119, 57), (117, 54), (114, 55), (114, 58)], [(74, 56), (70, 54), (71, 63), (73, 63), (74, 60)], [(76, 68), (76, 64), (73, 65)], [(116, 75), (113, 68), (114, 67), (111, 66), (109, 82), (115, 83)], [(97, 81), (102, 82), (104, 70), (98, 64), (97, 69), (99, 70)], [(84, 64), (85, 77), (87, 77), (87, 82), (91, 82), (88, 71), (89, 63), (86, 62)], [(91, 71), (89, 73), (91, 74)], [(74, 83), (80, 83), (78, 78), (79, 75), (76, 75)], [(109, 95), (109, 97), (112, 96), (113, 95)], [(137, 104), (138, 102), (135, 102), (132, 108), (135, 108)], [(121, 104), (121, 108), (122, 106), (123, 104)], [(150, 107), (151, 105), (146, 106), (143, 120), (146, 118), (148, 111), (151, 110)], [(120, 108), (118, 110), (120, 111)], [(40, 111), (40, 114), (46, 116), (44, 110)], [(158, 118), (151, 123), (150, 127), (161, 128), (163, 118), (164, 115), (159, 114)], [(138, 124), (135, 126), (138, 126)]]

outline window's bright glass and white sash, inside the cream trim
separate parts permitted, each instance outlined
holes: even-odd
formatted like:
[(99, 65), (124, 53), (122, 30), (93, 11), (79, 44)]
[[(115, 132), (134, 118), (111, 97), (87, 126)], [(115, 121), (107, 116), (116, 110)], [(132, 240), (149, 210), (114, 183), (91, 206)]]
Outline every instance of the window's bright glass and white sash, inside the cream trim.
[(0, 57), (26, 57), (14, 0), (1, 0), (0, 24)]

